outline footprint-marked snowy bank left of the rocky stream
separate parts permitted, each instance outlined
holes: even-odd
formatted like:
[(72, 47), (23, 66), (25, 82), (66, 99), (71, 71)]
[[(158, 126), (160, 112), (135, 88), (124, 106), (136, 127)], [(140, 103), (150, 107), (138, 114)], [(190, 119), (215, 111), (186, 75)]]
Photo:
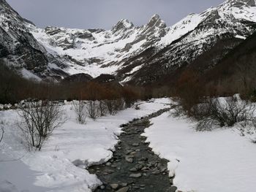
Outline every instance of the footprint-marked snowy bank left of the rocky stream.
[(67, 104), (67, 123), (53, 131), (42, 151), (37, 152), (26, 151), (15, 110), (1, 111), (5, 133), (0, 143), (0, 191), (91, 191), (101, 183), (80, 168), (111, 158), (110, 150), (118, 142), (122, 123), (168, 107), (168, 103), (169, 99), (143, 101), (140, 110), (129, 108), (96, 121), (88, 118), (86, 125), (76, 123), (72, 106)]

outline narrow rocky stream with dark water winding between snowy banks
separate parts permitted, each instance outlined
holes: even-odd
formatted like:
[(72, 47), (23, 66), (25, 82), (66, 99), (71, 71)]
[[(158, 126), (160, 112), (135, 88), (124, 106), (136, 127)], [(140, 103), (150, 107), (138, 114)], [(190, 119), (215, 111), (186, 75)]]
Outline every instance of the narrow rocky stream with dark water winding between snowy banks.
[(119, 137), (113, 158), (88, 169), (103, 183), (95, 191), (176, 191), (177, 188), (172, 186), (173, 179), (168, 176), (168, 161), (154, 154), (148, 147), (149, 143), (145, 142), (146, 137), (140, 136), (150, 126), (151, 118), (168, 110), (159, 110), (122, 126), (125, 132)]

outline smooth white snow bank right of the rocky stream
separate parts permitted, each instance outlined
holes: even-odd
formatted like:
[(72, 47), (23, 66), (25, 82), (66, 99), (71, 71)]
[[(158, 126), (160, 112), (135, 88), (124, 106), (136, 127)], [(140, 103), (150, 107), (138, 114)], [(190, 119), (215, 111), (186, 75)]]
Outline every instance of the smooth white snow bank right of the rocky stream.
[(236, 128), (196, 132), (193, 123), (166, 112), (151, 120), (144, 136), (166, 158), (178, 190), (197, 192), (255, 191), (256, 144)]

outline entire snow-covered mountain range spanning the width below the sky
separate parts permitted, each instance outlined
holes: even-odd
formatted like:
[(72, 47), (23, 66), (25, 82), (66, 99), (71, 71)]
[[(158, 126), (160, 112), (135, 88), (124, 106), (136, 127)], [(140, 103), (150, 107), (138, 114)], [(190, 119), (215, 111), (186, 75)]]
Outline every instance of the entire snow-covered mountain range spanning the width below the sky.
[(140, 85), (163, 81), (187, 66), (214, 67), (256, 30), (254, 0), (226, 0), (170, 27), (154, 15), (144, 26), (120, 20), (108, 31), (37, 28), (0, 4), (0, 57), (23, 74), (57, 80), (86, 73)]

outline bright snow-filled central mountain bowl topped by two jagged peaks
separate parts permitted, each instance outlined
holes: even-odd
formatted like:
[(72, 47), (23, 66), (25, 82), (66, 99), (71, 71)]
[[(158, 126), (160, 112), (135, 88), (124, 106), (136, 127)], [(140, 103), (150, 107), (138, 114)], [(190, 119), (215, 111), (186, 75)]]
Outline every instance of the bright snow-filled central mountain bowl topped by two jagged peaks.
[(167, 30), (159, 15), (154, 15), (141, 27), (135, 27), (129, 20), (120, 20), (110, 31), (56, 27), (40, 29), (30, 23), (27, 27), (49, 53), (69, 59), (65, 72), (86, 72), (93, 77), (116, 72), (117, 62), (150, 47)]

